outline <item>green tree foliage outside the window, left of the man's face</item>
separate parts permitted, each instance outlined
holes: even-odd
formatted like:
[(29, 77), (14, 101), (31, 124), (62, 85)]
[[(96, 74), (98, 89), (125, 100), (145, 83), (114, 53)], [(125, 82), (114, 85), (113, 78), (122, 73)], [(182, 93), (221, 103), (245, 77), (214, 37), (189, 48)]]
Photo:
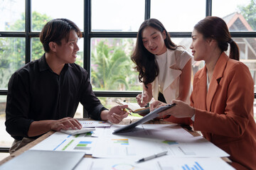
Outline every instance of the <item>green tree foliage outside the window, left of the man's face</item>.
[[(50, 17), (33, 12), (32, 28), (42, 28), (50, 21)], [(21, 31), (24, 29), (25, 13), (21, 14), (21, 19), (17, 20), (7, 30)], [(25, 38), (0, 38), (0, 87), (7, 88), (11, 74), (25, 64)], [(32, 56), (43, 54), (43, 47), (39, 40), (33, 41)]]

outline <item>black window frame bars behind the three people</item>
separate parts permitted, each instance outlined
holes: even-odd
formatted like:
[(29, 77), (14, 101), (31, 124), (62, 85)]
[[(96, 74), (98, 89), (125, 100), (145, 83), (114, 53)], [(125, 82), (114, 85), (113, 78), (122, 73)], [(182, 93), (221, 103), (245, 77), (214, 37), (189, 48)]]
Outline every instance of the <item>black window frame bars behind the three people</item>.
[[(31, 1), (25, 0), (25, 32), (0, 32), (1, 38), (25, 38), (25, 63), (31, 62), (31, 39), (38, 38), (40, 32), (31, 31)], [(84, 41), (83, 67), (90, 75), (90, 53), (92, 38), (137, 38), (137, 32), (92, 32), (91, 31), (91, 1), (84, 0), (84, 31), (82, 38)], [(145, 0), (144, 19), (150, 18), (151, 0)], [(206, 0), (206, 16), (212, 15), (212, 0)], [(191, 32), (169, 32), (171, 38), (191, 38)], [(255, 32), (230, 32), (233, 38), (256, 38)], [(7, 95), (8, 90), (0, 89), (0, 95)], [(140, 91), (95, 91), (98, 97), (135, 97)], [(255, 94), (256, 96), (256, 94)], [(87, 112), (84, 110), (83, 117), (87, 118)]]

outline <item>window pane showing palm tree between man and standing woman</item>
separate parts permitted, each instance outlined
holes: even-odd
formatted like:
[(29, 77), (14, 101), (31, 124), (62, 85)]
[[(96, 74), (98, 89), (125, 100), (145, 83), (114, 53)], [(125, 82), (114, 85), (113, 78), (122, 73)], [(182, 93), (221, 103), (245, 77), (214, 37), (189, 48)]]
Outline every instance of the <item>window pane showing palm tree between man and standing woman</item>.
[(91, 82), (94, 90), (142, 90), (130, 59), (135, 42), (135, 38), (92, 39)]

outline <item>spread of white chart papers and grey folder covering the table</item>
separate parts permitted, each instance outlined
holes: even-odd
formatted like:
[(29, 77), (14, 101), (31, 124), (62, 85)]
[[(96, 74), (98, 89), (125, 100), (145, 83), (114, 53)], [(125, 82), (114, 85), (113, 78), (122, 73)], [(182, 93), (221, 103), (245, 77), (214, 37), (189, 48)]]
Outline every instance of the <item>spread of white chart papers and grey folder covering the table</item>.
[[(84, 122), (98, 125), (99, 122)], [(193, 137), (179, 125), (137, 125), (129, 132), (113, 134), (125, 125), (107, 125), (79, 135), (55, 132), (21, 157), (11, 159), (1, 169), (233, 169), (220, 159), (229, 157), (202, 136)], [(150, 149), (149, 149), (150, 148)], [(138, 159), (167, 151), (166, 155), (136, 163)], [(43, 153), (39, 155), (38, 153)], [(53, 154), (54, 153), (54, 154)], [(91, 154), (98, 159), (82, 158)], [(32, 157), (33, 155), (33, 157)], [(34, 157), (34, 155), (38, 155)], [(54, 158), (52, 158), (54, 157)], [(39, 162), (33, 159), (41, 160)], [(63, 161), (65, 160), (65, 161)], [(22, 162), (22, 163), (21, 163)], [(27, 162), (27, 163), (26, 163)], [(45, 166), (41, 166), (44, 162)], [(59, 162), (56, 164), (56, 162)], [(61, 162), (61, 163), (60, 163)], [(37, 165), (35, 165), (35, 164)], [(47, 167), (46, 167), (47, 166)], [(65, 167), (64, 167), (65, 166)], [(68, 167), (68, 168), (67, 168)], [(73, 168), (71, 168), (73, 167)]]

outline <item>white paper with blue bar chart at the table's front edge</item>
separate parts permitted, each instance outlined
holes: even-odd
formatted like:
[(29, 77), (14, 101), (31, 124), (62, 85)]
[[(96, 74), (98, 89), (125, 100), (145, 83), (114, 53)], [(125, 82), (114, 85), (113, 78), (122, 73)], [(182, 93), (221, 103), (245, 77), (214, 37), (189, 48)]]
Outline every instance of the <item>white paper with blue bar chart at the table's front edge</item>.
[(180, 169), (225, 169), (233, 167), (220, 158), (174, 158), (163, 156), (147, 162), (135, 163), (135, 159), (91, 159), (83, 158), (75, 170), (109, 170), (109, 169), (134, 169), (134, 170), (180, 170)]

